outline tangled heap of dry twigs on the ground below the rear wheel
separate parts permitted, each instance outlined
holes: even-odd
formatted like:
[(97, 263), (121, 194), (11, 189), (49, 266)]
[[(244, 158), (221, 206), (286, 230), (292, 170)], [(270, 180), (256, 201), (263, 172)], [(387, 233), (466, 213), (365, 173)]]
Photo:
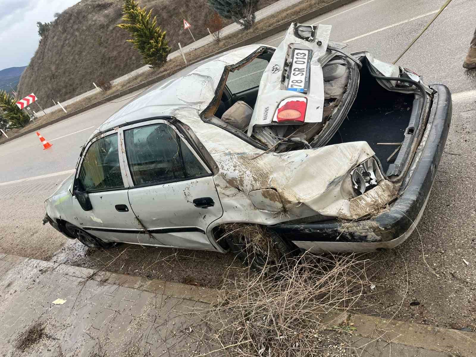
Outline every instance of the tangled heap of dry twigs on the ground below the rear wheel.
[(368, 291), (367, 265), (364, 255), (305, 253), (279, 269), (226, 278), (218, 302), (201, 313), (221, 348), (203, 356), (352, 356), (347, 337), (355, 328), (321, 318), (346, 312)]

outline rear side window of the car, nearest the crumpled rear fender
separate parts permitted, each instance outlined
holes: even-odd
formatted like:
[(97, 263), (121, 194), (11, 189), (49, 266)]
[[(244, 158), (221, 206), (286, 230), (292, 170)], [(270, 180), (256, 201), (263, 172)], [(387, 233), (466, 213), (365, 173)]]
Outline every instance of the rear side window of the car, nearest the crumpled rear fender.
[(176, 181), (207, 174), (187, 145), (167, 124), (124, 130), (134, 185)]

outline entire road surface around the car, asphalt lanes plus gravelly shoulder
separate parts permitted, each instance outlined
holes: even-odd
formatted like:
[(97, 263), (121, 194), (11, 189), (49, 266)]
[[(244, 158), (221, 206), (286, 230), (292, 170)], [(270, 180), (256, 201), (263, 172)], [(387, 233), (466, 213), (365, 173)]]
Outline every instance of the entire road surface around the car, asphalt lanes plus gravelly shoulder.
[[(333, 25), (331, 38), (347, 42), (351, 51), (369, 50), (393, 61), (443, 3), (355, 1), (309, 23)], [(423, 74), (428, 83), (446, 84), (453, 93), (476, 89), (476, 70), (461, 67), (476, 26), (475, 9), (476, 0), (453, 0), (398, 64)], [(262, 42), (278, 45), (280, 36)], [(42, 150), (34, 133), (0, 145), (0, 251), (216, 286), (233, 257), (136, 246), (95, 252), (40, 225), (44, 198), (66, 177), (64, 171), (74, 168), (80, 146), (130, 96), (41, 129), (53, 144), (48, 150)], [(380, 285), (362, 300), (362, 308), (385, 317), (475, 330), (476, 93), (456, 98), (445, 153), (418, 231), (398, 249), (369, 255), (373, 279)], [(41, 175), (49, 177), (29, 179)], [(410, 307), (412, 301), (420, 305)]]

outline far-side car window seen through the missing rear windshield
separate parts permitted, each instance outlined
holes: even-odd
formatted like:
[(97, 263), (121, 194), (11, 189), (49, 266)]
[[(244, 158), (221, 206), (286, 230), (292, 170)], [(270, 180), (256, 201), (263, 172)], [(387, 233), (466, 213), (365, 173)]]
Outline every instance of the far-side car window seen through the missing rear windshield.
[(268, 64), (267, 60), (255, 58), (241, 69), (228, 73), (228, 89), (235, 94), (258, 87)]

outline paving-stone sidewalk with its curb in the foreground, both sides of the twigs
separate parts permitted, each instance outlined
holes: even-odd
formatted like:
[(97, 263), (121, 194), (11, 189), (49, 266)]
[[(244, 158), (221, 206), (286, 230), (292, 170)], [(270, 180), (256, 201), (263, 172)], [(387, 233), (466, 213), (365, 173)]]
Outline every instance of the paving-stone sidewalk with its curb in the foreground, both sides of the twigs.
[[(193, 311), (216, 298), (212, 289), (0, 254), (0, 356), (208, 354), (220, 346)], [(361, 357), (476, 356), (470, 332), (362, 315), (324, 318), (352, 321), (352, 350)]]

